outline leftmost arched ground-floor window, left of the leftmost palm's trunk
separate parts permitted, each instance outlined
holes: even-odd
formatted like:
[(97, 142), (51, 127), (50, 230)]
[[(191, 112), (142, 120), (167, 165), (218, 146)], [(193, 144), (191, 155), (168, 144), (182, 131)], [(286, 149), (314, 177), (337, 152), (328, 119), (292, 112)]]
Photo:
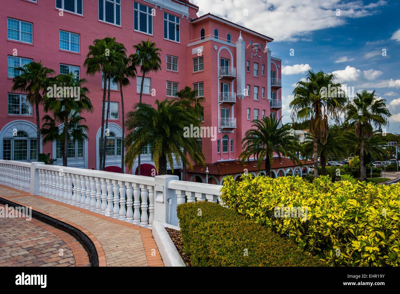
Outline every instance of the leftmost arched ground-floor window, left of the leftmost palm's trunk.
[(36, 160), (37, 140), (30, 139), (28, 134), (18, 131), (16, 136), (3, 139), (3, 159), (30, 161)]

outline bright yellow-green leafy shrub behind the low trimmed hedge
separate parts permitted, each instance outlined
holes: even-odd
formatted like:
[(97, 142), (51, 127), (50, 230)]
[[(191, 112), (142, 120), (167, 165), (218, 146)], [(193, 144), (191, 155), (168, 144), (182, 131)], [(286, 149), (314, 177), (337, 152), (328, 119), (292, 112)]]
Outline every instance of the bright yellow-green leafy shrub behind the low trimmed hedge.
[[(400, 266), (400, 184), (247, 175), (241, 182), (225, 178), (222, 193), (229, 208), (328, 265)], [(281, 205), (307, 207), (307, 219), (275, 217)]]

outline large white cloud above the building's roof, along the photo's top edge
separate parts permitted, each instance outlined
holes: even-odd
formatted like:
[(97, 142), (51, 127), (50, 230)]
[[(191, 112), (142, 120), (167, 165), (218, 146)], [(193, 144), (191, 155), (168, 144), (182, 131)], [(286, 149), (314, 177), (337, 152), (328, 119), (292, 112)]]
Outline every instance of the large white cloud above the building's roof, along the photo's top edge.
[[(344, 0), (192, 0), (200, 7), (198, 16), (208, 12), (255, 30), (276, 41), (312, 40), (309, 34), (324, 28), (342, 26), (350, 18), (379, 13), (387, 1), (364, 5)], [(336, 9), (340, 16), (336, 16)], [(244, 9), (248, 13), (244, 13)], [(232, 39), (238, 36), (232, 36)], [(235, 40), (236, 41), (236, 40)], [(246, 42), (248, 40), (245, 40)]]

